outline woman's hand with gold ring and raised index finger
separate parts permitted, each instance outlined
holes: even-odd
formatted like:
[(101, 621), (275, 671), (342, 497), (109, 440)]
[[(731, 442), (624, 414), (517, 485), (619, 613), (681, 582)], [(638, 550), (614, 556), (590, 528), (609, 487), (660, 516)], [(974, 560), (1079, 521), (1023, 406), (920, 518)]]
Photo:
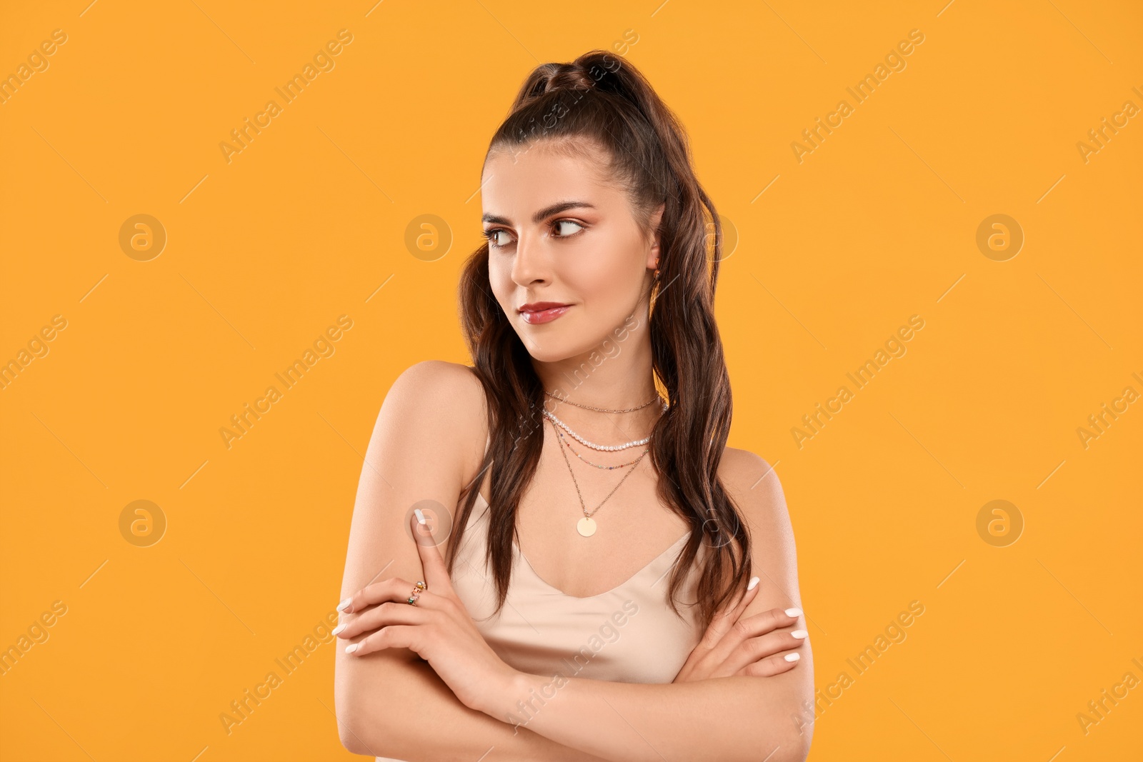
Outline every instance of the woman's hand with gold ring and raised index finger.
[(429, 527), (421, 524), (416, 514), (410, 526), (427, 585), (416, 604), (408, 603), (415, 583), (390, 577), (346, 599), (349, 604), (338, 610), (358, 616), (333, 632), (344, 639), (369, 633), (345, 648), (354, 657), (385, 648), (411, 649), (429, 661), (469, 708), (485, 712), (499, 706), (521, 673), (506, 665), (477, 629), (453, 589), (445, 559)]

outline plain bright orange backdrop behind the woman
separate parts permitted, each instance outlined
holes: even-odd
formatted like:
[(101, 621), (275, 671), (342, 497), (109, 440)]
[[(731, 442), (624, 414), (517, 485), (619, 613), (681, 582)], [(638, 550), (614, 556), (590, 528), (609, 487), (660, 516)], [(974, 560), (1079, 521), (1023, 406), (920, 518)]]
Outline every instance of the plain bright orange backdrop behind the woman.
[[(678, 112), (737, 238), (717, 299), (729, 443), (784, 486), (818, 689), (853, 679), (809, 759), (1137, 752), (1143, 687), (1086, 733), (1077, 714), (1143, 681), (1143, 402), (1086, 448), (1077, 430), (1143, 393), (1143, 117), (1087, 161), (1077, 143), (1143, 107), (1143, 9), (866, 5), (5, 3), (0, 74), (66, 42), (0, 104), (0, 362), (66, 328), (0, 390), (0, 648), (66, 613), (0, 676), (0, 757), (352, 756), (318, 640), (229, 735), (219, 714), (337, 604), (386, 390), (469, 360), (455, 291), (487, 142), (533, 66), (596, 47)], [(335, 67), (227, 162), (219, 143), (343, 29)], [(138, 214), (167, 235), (146, 262), (120, 246)], [(976, 244), (996, 214), (1024, 234), (1004, 262)], [(447, 250), (406, 244), (421, 215)], [(339, 315), (335, 353), (227, 449), (218, 430)], [(906, 353), (856, 388), (911, 315)], [(1023, 521), (1006, 546), (977, 531), (996, 499)], [(158, 543), (120, 529), (135, 500)], [(911, 601), (908, 637), (858, 675), (846, 660)]]

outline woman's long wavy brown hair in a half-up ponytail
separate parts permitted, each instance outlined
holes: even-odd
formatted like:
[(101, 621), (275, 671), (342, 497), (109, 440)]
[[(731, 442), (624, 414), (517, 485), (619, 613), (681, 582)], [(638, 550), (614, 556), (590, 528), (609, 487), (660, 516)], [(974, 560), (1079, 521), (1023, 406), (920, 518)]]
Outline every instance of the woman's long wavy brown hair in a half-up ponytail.
[[(750, 573), (745, 523), (718, 479), (732, 414), (730, 382), (713, 311), (722, 246), (718, 214), (695, 177), (678, 119), (634, 66), (606, 50), (533, 70), (488, 153), (527, 150), (537, 141), (565, 150), (582, 150), (585, 144), (604, 147), (612, 177), (626, 189), (645, 232), (654, 210), (664, 204), (649, 330), (656, 385), (670, 408), (652, 430), (649, 456), (660, 476), (660, 500), (692, 529), (671, 573), (669, 600), (677, 615), (676, 596), (701, 546), (711, 551), (697, 587), (705, 629)], [(491, 294), (487, 241), (465, 262), (458, 297), (472, 370), (487, 398), (490, 440), (454, 522), (448, 569), (451, 572), (490, 466), (489, 504), (495, 507), (486, 558), (491, 559), (498, 611), (511, 576), (517, 506), (539, 463), (544, 390), (527, 348)]]

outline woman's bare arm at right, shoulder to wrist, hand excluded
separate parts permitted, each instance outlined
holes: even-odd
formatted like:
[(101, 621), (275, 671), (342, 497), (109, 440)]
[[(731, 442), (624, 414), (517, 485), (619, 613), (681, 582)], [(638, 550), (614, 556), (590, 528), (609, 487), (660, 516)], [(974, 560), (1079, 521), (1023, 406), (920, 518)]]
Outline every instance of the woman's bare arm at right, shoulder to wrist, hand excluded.
[[(743, 617), (800, 608), (793, 531), (777, 475), (753, 454), (736, 450), (729, 457), (735, 463), (728, 464), (730, 473), (722, 481), (745, 514), (752, 568), (761, 578)], [(759, 481), (762, 474), (767, 475)], [(550, 677), (520, 674), (497, 697), (496, 706), (481, 708), (496, 719), (511, 713), (536, 733), (616, 762), (804, 762), (813, 735), (804, 708), (814, 685), (808, 645), (801, 649), (797, 669), (765, 679), (729, 676), (663, 685), (570, 677), (542, 692)], [(534, 707), (527, 715), (521, 716), (520, 700)]]

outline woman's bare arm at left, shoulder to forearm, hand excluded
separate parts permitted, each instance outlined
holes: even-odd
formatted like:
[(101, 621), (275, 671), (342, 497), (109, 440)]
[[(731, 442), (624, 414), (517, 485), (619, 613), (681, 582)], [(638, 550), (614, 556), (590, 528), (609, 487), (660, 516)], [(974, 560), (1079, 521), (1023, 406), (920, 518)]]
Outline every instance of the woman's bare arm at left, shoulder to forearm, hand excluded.
[[(462, 366), (422, 362), (393, 383), (361, 470), (342, 599), (370, 580), (423, 579), (408, 515), (424, 499), (453, 511), (483, 456), (482, 416), (483, 391)], [(338, 731), (351, 752), (471, 762), (495, 746), (497, 760), (598, 762), (470, 709), (409, 649), (352, 657), (338, 648), (335, 671)]]

